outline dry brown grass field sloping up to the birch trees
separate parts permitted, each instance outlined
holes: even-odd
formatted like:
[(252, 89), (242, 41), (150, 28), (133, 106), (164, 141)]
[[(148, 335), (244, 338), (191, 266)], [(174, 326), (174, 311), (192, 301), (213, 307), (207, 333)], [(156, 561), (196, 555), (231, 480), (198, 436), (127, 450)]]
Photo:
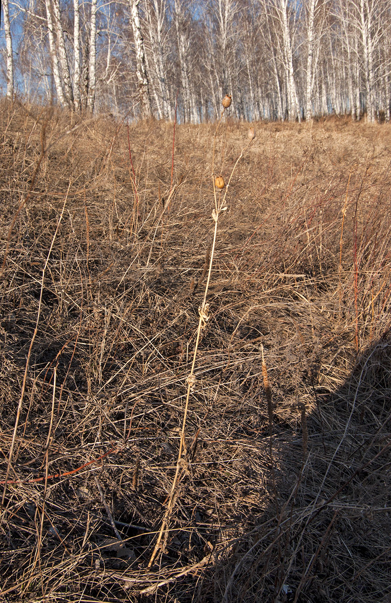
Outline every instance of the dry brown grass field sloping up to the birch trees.
[(390, 125), (227, 110), (200, 320), (216, 124), (0, 121), (0, 601), (389, 603)]

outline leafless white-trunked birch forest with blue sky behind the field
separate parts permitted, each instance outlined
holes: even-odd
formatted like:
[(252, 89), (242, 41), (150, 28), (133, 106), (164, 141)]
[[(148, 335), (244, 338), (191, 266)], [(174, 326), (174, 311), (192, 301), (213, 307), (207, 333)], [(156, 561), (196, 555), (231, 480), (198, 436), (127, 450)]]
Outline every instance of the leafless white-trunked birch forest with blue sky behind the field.
[(390, 121), (389, 0), (4, 0), (8, 98), (116, 118)]

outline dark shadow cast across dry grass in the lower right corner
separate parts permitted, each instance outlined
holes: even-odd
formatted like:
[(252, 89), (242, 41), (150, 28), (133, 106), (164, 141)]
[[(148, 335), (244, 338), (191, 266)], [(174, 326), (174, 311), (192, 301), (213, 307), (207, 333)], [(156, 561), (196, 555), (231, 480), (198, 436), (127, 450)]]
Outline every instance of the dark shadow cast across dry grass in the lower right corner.
[(390, 601), (390, 330), (318, 402), (304, 463), (297, 442), (273, 443), (286, 457), (274, 461), (270, 508), (159, 601)]

